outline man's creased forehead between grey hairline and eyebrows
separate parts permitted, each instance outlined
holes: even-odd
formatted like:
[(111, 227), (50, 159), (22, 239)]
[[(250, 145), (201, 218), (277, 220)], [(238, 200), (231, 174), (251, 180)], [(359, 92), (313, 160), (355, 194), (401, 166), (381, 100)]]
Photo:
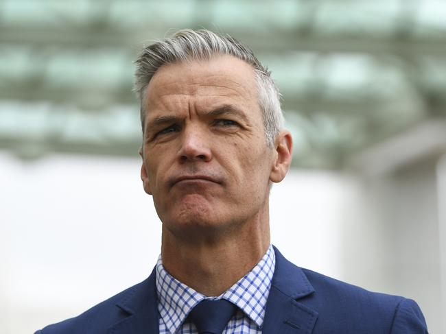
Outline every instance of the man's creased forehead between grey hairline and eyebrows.
[(191, 97), (197, 106), (222, 100), (257, 104), (255, 71), (250, 64), (227, 55), (165, 64), (146, 88), (145, 106), (154, 110), (160, 104), (176, 104)]

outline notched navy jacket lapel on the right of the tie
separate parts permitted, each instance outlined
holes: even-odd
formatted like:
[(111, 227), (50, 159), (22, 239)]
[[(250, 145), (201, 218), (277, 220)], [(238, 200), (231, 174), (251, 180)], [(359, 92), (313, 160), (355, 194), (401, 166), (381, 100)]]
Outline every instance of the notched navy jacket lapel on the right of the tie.
[(314, 288), (301, 268), (287, 261), (277, 248), (274, 248), (274, 252), (276, 266), (266, 302), (262, 333), (312, 333), (318, 313), (298, 300), (314, 293)]

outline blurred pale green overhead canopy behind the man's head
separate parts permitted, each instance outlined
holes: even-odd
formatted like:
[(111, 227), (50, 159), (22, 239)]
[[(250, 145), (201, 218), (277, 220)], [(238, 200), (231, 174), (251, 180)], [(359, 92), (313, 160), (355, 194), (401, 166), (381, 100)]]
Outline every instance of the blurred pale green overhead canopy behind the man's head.
[(446, 115), (446, 2), (0, 0), (0, 148), (135, 156), (142, 45), (206, 27), (272, 70), (294, 165), (352, 156)]

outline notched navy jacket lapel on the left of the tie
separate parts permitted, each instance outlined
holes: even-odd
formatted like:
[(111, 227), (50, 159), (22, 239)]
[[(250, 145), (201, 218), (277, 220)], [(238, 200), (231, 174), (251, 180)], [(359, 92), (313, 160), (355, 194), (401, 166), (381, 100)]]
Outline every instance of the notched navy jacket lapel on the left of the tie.
[(110, 327), (108, 334), (159, 334), (155, 270), (116, 306), (126, 313), (126, 317)]

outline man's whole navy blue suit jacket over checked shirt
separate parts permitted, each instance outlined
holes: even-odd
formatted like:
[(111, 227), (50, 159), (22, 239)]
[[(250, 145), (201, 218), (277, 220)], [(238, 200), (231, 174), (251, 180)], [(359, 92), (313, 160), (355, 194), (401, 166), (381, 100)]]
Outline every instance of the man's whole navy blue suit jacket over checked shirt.
[[(263, 334), (427, 333), (416, 302), (301, 269), (276, 252)], [(157, 334), (155, 273), (76, 318), (35, 334)]]

